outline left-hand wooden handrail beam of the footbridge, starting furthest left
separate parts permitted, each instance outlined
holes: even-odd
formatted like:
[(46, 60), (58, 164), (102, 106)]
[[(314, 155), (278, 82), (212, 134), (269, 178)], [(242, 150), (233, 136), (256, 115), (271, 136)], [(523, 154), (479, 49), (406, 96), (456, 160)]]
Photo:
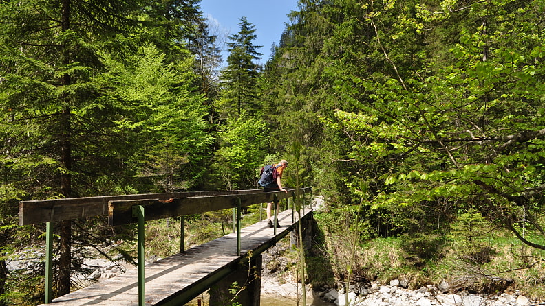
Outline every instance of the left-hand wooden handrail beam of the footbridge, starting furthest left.
[(194, 196), (219, 196), (229, 194), (248, 194), (261, 189), (232, 191), (189, 191), (174, 193), (146, 193), (125, 196), (98, 196), (86, 198), (64, 198), (51, 200), (30, 200), (19, 202), (19, 225), (44, 222), (57, 222), (82, 217), (108, 214), (108, 202), (116, 200), (166, 200), (169, 198), (188, 198)]

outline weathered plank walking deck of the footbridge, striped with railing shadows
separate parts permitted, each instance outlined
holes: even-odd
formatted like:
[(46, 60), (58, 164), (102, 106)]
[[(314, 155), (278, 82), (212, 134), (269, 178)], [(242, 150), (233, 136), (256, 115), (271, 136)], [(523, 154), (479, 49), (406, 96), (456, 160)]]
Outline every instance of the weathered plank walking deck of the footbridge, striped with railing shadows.
[[(310, 210), (306, 211), (309, 215)], [(305, 215), (305, 216), (306, 216)], [(301, 214), (301, 217), (303, 215)], [(294, 217), (297, 224), (297, 214)], [(210, 281), (215, 274), (225, 274), (233, 265), (246, 257), (248, 251), (259, 254), (285, 237), (295, 226), (291, 209), (279, 213), (281, 228), (277, 235), (268, 228), (266, 220), (242, 228), (241, 256), (237, 256), (236, 234), (228, 234), (206, 244), (149, 263), (145, 266), (146, 305), (181, 305), (176, 296), (197, 296), (202, 292), (191, 292), (199, 283)], [(46, 304), (43, 304), (46, 305)], [(52, 301), (55, 306), (64, 305), (138, 305), (138, 272), (127, 270), (112, 279), (95, 283), (82, 290), (66, 294)]]

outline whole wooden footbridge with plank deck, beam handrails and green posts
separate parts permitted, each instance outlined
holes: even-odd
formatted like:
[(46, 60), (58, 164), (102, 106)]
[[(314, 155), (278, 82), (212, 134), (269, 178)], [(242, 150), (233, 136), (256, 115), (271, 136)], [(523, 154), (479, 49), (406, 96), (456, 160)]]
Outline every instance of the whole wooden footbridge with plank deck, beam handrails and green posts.
[[(224, 305), (226, 291), (237, 281), (246, 288), (237, 301), (244, 306), (259, 305), (261, 282), (255, 276), (261, 274), (261, 252), (297, 226), (293, 204), (299, 200), (303, 203), (301, 224), (309, 224), (312, 210), (305, 211), (303, 195), (310, 191), (312, 188), (306, 187), (288, 189), (288, 193), (254, 189), (23, 201), (19, 204), (19, 224), (47, 222), (45, 304), (184, 305), (213, 287), (210, 305)], [(268, 228), (266, 220), (241, 228), (241, 207), (288, 198), (292, 198), (292, 209), (275, 212), (281, 228)], [(235, 233), (189, 250), (181, 247), (176, 255), (144, 265), (146, 220), (229, 208), (234, 211)], [(129, 270), (52, 300), (51, 222), (95, 215), (108, 215), (110, 225), (138, 223), (138, 270)], [(183, 224), (182, 218), (182, 238)]]

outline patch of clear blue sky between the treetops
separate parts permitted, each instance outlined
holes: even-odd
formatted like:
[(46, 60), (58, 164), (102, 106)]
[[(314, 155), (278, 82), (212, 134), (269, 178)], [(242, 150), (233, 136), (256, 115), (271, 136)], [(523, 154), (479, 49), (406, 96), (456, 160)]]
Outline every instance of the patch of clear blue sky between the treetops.
[[(297, 3), (297, 0), (202, 0), (200, 6), (204, 16), (217, 23), (218, 30), (227, 35), (239, 32), (242, 16), (255, 25), (254, 45), (263, 46), (258, 51), (263, 54), (260, 62), (264, 64), (270, 56), (270, 47), (280, 41), (284, 26), (289, 22), (288, 14), (297, 10)], [(224, 61), (227, 55), (223, 53)]]

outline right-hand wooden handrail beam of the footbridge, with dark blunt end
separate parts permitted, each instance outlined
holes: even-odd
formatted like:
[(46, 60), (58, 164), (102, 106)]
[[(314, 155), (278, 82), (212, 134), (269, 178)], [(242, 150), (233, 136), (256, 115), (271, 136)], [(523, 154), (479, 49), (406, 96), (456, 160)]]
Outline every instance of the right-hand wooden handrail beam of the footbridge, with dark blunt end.
[[(310, 187), (301, 189), (303, 192), (312, 190)], [(289, 198), (296, 189), (284, 191), (264, 192), (262, 190), (248, 194), (231, 194), (223, 196), (206, 196), (191, 198), (172, 198), (172, 202), (155, 200), (118, 200), (110, 201), (108, 208), (108, 223), (111, 226), (136, 223), (136, 217), (132, 215), (132, 207), (142, 205), (145, 209), (145, 220), (158, 220), (166, 217), (178, 217), (180, 215), (192, 215), (206, 211), (231, 209), (237, 206), (240, 198), (243, 206), (272, 202), (276, 195), (279, 199)]]

